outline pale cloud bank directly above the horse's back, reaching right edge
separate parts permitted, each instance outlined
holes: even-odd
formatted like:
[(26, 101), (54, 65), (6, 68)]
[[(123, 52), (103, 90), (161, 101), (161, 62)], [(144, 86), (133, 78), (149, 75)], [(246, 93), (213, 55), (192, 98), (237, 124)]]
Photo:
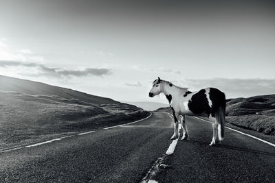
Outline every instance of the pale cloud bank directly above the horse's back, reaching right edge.
[(225, 92), (227, 98), (250, 97), (275, 93), (275, 79), (212, 78), (206, 80), (186, 79), (172, 82), (179, 86), (189, 87), (192, 90), (199, 90), (206, 87), (219, 88)]

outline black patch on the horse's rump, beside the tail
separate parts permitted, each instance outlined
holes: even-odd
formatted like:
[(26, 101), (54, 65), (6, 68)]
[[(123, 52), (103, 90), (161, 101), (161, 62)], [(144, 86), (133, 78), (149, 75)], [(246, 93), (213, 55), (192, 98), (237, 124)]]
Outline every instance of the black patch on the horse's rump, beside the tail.
[(214, 117), (215, 112), (219, 107), (225, 109), (226, 101), (225, 94), (218, 90), (217, 88), (210, 88), (209, 98), (212, 101), (211, 115)]

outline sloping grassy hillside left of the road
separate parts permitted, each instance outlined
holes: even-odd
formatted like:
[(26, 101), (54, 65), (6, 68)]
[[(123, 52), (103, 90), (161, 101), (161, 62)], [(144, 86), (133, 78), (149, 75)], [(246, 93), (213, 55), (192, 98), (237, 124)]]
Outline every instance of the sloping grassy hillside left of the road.
[(0, 76), (0, 149), (141, 119), (148, 112), (113, 99)]

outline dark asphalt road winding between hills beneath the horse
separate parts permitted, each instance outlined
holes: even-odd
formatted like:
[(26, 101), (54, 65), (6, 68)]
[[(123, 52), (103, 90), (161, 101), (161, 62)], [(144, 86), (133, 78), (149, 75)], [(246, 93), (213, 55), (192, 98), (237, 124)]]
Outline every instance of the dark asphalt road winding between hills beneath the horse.
[[(165, 156), (157, 182), (274, 182), (275, 147), (225, 130), (210, 147), (210, 123), (186, 117), (190, 137)], [(120, 127), (0, 154), (0, 182), (141, 182), (164, 157), (173, 119), (164, 112)]]

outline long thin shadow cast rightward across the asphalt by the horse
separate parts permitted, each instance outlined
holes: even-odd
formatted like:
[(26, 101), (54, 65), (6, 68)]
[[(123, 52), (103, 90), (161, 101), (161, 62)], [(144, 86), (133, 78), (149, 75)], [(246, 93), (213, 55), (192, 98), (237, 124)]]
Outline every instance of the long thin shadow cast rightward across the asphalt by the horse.
[[(195, 140), (184, 140), (184, 143), (195, 143), (195, 144), (199, 144), (199, 145), (207, 145), (209, 146), (209, 143), (206, 142), (202, 142), (202, 141), (195, 141)], [(233, 150), (238, 150), (238, 151), (244, 151), (244, 152), (250, 152), (253, 154), (262, 154), (262, 155), (267, 155), (267, 156), (274, 156), (275, 157), (275, 153), (271, 153), (271, 152), (266, 152), (266, 151), (259, 151), (256, 149), (248, 149), (248, 148), (244, 148), (244, 147), (235, 147), (232, 145), (224, 145), (224, 144), (216, 144), (214, 145), (214, 147), (220, 147), (220, 148), (225, 148), (225, 149), (233, 149)]]

